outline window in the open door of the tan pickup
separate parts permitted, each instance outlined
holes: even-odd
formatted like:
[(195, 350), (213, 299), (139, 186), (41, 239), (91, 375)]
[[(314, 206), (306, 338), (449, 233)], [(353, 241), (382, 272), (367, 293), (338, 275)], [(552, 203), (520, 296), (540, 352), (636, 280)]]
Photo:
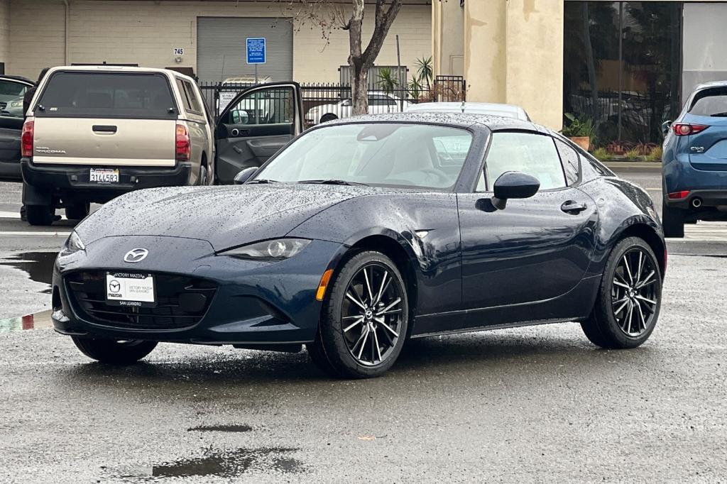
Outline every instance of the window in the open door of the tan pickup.
[(290, 87), (273, 87), (246, 94), (230, 109), (230, 124), (293, 124), (294, 97)]

